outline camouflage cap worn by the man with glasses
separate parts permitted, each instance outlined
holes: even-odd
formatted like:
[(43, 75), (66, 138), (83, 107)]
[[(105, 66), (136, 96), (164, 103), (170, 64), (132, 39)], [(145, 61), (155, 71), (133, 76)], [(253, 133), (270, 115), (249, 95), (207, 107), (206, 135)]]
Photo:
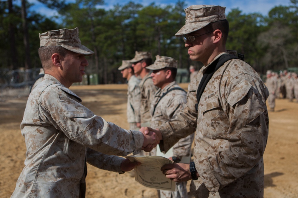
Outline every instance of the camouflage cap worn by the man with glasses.
[(176, 37), (197, 31), (209, 23), (226, 19), (226, 7), (213, 5), (192, 5), (185, 11), (185, 25), (175, 34)]

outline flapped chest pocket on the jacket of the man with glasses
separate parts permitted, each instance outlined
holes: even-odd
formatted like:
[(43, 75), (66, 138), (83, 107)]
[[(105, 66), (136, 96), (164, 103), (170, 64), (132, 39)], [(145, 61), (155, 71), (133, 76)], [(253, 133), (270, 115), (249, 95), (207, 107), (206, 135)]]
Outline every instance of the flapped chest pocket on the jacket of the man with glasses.
[(224, 115), (218, 95), (205, 101), (201, 112), (203, 113), (201, 125), (203, 125), (204, 134), (207, 133), (206, 135), (216, 139), (227, 133), (225, 126), (229, 126), (229, 121)]

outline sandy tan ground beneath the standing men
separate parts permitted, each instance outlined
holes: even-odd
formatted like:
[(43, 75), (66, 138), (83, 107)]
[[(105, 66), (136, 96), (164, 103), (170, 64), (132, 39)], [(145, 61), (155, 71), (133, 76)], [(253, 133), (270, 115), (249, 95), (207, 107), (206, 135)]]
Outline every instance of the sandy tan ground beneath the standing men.
[[(187, 84), (181, 84), (187, 89)], [(72, 86), (83, 104), (105, 120), (128, 128), (126, 85)], [(24, 167), (26, 145), (20, 123), (27, 102), (25, 94), (15, 92), (0, 98), (0, 198), (10, 197)], [(269, 137), (264, 154), (264, 197), (298, 197), (298, 103), (276, 100), (276, 111), (269, 112)], [(137, 183), (129, 174), (99, 170), (88, 164), (87, 198), (156, 198), (154, 189)], [(188, 198), (193, 197), (189, 195)]]

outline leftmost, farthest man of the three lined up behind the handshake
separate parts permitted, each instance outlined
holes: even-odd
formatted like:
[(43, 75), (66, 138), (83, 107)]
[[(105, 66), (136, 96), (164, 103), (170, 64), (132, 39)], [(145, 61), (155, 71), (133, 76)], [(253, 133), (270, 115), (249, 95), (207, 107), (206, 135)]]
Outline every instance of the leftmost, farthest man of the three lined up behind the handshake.
[(122, 61), (122, 65), (118, 68), (118, 70), (121, 70), (122, 77), (128, 80), (126, 114), (127, 121), (129, 123), (129, 129), (139, 130), (141, 128), (141, 91), (139, 87), (140, 80), (134, 75), (134, 68), (131, 67), (130, 60)]

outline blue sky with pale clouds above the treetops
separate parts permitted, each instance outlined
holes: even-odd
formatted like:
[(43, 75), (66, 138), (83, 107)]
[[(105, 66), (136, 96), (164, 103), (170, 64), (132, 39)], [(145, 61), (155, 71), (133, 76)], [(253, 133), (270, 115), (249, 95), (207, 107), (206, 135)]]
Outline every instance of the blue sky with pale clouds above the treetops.
[[(2, 1), (2, 0), (1, 0)], [(75, 0), (66, 0), (68, 2), (75, 2)], [(120, 5), (128, 3), (130, 0), (105, 0), (105, 5), (103, 8), (112, 9), (113, 6), (117, 3)], [(43, 4), (39, 3), (37, 0), (29, 0), (29, 2), (36, 4), (31, 9), (34, 9), (43, 15), (52, 16), (55, 15), (55, 10), (46, 8)], [(156, 5), (167, 5), (167, 4), (176, 4), (177, 0), (134, 0), (135, 3), (142, 4), (147, 6), (152, 2), (155, 2)], [(207, 5), (221, 5), (226, 7), (226, 14), (230, 12), (233, 8), (239, 8), (243, 13), (248, 14), (252, 12), (258, 12), (262, 15), (268, 15), (268, 12), (275, 6), (283, 5), (289, 6), (290, 0), (196, 0), (196, 1), (185, 1), (187, 6), (195, 4), (207, 4)]]

